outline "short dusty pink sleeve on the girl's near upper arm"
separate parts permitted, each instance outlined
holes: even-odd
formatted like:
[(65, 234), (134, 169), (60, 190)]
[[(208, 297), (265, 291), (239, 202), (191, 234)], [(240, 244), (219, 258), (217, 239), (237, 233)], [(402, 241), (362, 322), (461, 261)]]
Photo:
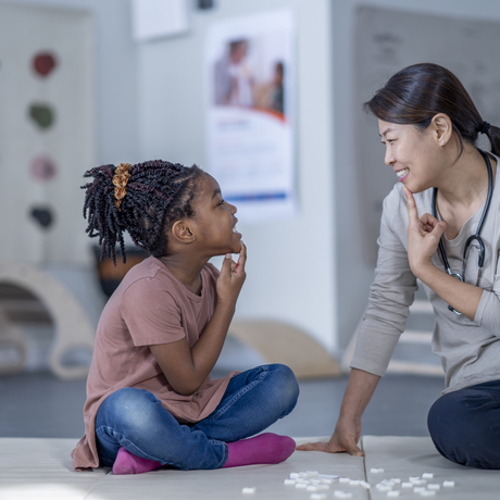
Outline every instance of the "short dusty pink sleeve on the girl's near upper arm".
[(136, 347), (186, 337), (178, 304), (155, 277), (134, 282), (123, 293), (121, 311)]

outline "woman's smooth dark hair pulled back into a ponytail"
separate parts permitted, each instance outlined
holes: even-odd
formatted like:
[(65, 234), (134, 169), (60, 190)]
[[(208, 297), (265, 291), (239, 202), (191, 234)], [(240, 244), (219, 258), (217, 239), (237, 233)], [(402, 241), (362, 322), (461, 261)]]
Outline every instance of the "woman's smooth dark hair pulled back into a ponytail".
[(384, 122), (414, 125), (422, 130), (437, 113), (445, 113), (459, 137), (461, 152), (464, 141), (474, 145), (484, 133), (491, 152), (500, 154), (500, 128), (484, 122), (459, 78), (438, 64), (404, 67), (364, 103), (364, 109)]

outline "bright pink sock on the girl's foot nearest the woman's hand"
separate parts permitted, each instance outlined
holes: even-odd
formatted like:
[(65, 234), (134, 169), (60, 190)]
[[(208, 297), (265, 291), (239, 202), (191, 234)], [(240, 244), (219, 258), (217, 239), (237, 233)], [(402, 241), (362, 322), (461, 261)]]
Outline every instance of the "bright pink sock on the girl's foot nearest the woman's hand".
[(288, 436), (272, 433), (260, 434), (249, 439), (228, 442), (228, 458), (222, 468), (285, 462), (295, 449), (296, 441)]

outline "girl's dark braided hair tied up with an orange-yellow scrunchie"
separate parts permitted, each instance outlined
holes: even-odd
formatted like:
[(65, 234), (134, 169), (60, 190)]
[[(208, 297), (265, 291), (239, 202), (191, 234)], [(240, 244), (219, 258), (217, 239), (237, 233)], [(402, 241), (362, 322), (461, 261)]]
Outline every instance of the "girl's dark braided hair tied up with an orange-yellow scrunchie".
[[(99, 236), (101, 259), (112, 258), (116, 265), (120, 243), (125, 262), (125, 230), (137, 247), (153, 257), (165, 255), (167, 230), (175, 221), (195, 215), (192, 201), (202, 173), (196, 165), (187, 167), (161, 160), (87, 171), (84, 177), (93, 180), (82, 186), (86, 189), (84, 217), (88, 211), (87, 233), (91, 238)], [(122, 191), (118, 198), (115, 189)]]

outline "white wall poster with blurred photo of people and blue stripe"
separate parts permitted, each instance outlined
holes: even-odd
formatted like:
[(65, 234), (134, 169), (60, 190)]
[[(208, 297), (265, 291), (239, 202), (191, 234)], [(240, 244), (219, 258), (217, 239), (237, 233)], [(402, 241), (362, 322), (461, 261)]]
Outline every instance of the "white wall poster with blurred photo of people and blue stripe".
[(297, 212), (293, 15), (214, 23), (208, 34), (208, 167), (243, 223)]

